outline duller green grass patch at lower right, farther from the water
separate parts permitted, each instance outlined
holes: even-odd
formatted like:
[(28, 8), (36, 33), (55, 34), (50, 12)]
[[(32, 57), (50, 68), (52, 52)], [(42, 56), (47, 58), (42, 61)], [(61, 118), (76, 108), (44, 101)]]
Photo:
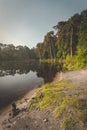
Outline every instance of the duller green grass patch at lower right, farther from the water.
[(85, 101), (83, 101), (82, 99), (66, 96), (62, 101), (62, 103), (60, 104), (60, 106), (58, 106), (54, 110), (54, 114), (56, 117), (61, 117), (62, 115), (64, 115), (64, 113), (68, 113), (69, 109), (78, 111), (83, 109), (84, 106), (85, 106)]

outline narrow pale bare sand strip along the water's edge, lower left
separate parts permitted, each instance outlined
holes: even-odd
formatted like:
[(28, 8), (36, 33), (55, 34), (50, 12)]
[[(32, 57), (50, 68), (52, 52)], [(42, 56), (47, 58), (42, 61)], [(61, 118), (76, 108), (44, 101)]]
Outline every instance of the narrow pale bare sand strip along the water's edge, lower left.
[[(26, 108), (27, 103), (34, 97), (36, 94), (36, 89), (30, 90), (27, 94), (25, 94), (20, 100), (16, 101), (17, 108), (20, 110)], [(9, 117), (9, 113), (11, 112), (11, 105), (3, 109), (0, 114), (0, 130), (2, 129), (2, 122)]]

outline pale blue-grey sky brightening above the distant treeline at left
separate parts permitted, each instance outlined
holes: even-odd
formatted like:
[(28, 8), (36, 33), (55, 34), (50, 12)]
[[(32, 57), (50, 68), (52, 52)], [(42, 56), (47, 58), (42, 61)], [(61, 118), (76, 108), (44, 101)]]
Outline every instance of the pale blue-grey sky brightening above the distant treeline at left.
[(87, 0), (0, 0), (0, 43), (35, 47), (60, 21), (87, 9)]

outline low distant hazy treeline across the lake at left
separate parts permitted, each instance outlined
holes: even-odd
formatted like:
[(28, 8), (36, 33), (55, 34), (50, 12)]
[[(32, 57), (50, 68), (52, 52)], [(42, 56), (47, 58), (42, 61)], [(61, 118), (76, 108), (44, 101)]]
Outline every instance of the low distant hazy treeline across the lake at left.
[(1, 60), (30, 60), (36, 59), (34, 49), (27, 46), (14, 46), (13, 44), (0, 43), (0, 61)]

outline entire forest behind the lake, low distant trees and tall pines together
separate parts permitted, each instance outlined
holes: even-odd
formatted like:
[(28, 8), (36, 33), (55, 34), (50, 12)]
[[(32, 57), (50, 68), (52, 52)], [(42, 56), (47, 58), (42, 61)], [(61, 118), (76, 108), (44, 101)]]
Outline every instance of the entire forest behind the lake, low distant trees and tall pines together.
[(67, 21), (60, 21), (47, 32), (43, 42), (29, 49), (0, 43), (2, 60), (50, 60), (63, 64), (68, 70), (87, 66), (87, 10), (75, 14)]

